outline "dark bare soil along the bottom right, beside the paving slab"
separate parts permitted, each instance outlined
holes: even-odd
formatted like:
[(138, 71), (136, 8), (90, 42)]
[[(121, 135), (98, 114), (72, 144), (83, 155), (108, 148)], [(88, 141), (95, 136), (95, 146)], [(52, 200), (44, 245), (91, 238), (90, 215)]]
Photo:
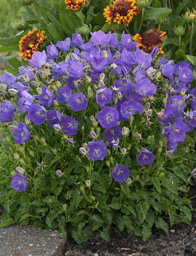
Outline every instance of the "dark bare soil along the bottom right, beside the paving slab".
[[(196, 187), (192, 187), (196, 195)], [(196, 198), (192, 200), (196, 211)], [(153, 230), (149, 241), (144, 242), (128, 233), (113, 233), (110, 242), (93, 238), (81, 245), (68, 241), (65, 256), (196, 256), (196, 212), (191, 225), (175, 225), (168, 234)]]

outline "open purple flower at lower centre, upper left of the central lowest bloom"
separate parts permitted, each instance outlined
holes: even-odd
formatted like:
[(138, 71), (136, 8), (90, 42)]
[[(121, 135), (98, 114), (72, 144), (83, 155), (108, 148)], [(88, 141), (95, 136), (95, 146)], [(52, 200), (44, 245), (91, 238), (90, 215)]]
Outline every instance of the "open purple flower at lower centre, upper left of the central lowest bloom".
[(107, 148), (104, 141), (91, 141), (87, 145), (89, 158), (93, 161), (102, 161), (107, 154)]

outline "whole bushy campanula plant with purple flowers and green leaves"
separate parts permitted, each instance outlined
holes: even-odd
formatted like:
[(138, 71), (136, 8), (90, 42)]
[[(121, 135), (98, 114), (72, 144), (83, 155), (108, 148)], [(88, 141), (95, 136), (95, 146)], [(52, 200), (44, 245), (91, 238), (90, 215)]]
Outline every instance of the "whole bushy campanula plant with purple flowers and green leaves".
[(80, 34), (0, 76), (0, 226), (57, 228), (81, 243), (127, 229), (144, 240), (190, 222), (192, 66), (122, 34)]

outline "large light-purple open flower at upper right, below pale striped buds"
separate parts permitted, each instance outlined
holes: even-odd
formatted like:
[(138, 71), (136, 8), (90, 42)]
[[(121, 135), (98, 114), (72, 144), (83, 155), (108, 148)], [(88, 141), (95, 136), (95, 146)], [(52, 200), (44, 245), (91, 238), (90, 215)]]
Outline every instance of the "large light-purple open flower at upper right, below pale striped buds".
[(156, 85), (150, 82), (150, 79), (143, 79), (136, 83), (136, 93), (144, 97), (153, 96), (157, 91)]

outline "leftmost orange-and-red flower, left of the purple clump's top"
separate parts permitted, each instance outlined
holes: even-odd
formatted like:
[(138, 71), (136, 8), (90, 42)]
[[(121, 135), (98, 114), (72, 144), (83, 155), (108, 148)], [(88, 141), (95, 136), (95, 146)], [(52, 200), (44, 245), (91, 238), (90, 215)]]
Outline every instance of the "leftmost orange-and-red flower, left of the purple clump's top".
[(38, 28), (33, 28), (28, 34), (23, 36), (19, 42), (20, 57), (25, 60), (30, 60), (33, 53), (38, 50), (40, 44), (46, 40), (45, 31), (39, 31)]

